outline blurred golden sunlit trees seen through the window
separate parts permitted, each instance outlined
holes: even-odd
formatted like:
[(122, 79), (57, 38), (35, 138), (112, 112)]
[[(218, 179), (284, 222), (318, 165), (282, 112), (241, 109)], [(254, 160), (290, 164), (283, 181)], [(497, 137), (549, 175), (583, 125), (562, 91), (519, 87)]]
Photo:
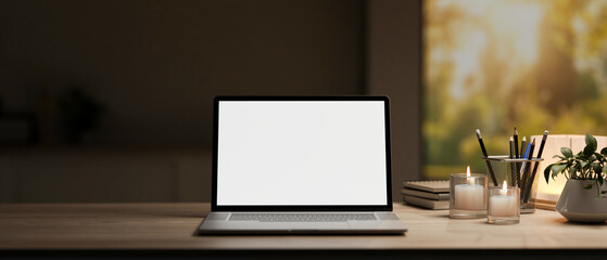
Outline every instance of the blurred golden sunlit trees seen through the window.
[(476, 128), (607, 134), (607, 1), (426, 0), (423, 52), (427, 178), (484, 171)]

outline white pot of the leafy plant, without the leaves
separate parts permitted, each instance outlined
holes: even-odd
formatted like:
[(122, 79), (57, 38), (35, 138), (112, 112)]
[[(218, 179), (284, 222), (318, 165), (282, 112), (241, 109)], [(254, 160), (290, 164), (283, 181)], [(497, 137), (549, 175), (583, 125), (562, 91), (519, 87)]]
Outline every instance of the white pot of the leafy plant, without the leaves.
[[(593, 184), (591, 190), (584, 185)], [(602, 191), (607, 190), (607, 182)], [(590, 180), (568, 180), (556, 204), (556, 211), (571, 222), (597, 223), (607, 221), (607, 198), (595, 198), (596, 182)]]

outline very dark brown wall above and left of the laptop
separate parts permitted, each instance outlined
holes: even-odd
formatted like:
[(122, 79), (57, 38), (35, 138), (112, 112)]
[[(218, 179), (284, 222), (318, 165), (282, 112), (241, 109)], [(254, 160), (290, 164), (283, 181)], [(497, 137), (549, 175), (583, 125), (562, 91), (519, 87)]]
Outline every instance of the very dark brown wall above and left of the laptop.
[(76, 87), (105, 107), (85, 142), (204, 146), (214, 95), (364, 93), (364, 1), (3, 0), (0, 95), (42, 142)]

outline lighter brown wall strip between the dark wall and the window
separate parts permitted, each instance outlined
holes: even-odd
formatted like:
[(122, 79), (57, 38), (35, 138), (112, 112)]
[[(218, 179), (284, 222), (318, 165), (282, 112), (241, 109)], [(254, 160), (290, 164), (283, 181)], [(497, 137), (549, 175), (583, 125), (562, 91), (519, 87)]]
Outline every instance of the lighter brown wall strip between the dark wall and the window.
[(369, 1), (368, 89), (390, 95), (392, 195), (421, 179), (421, 1)]

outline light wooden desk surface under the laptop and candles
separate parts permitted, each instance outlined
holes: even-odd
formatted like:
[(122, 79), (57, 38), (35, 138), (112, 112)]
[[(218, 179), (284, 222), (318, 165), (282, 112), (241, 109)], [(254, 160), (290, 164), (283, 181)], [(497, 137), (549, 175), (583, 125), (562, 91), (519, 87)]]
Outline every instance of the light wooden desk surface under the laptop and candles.
[(447, 210), (394, 205), (401, 236), (192, 236), (208, 204), (0, 205), (0, 249), (607, 249), (607, 224), (555, 211), (516, 225), (453, 220)]

